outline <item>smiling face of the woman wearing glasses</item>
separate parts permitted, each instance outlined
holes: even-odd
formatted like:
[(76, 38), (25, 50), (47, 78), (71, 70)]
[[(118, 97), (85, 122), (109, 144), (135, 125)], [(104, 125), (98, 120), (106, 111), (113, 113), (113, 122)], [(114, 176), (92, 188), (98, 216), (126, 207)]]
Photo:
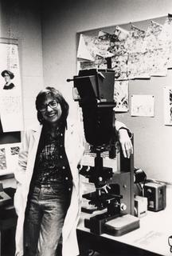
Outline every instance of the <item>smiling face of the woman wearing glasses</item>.
[(47, 95), (45, 101), (41, 104), (40, 111), (42, 118), (44, 118), (46, 122), (49, 122), (50, 125), (56, 125), (62, 114), (61, 104), (56, 102), (56, 100), (49, 95)]

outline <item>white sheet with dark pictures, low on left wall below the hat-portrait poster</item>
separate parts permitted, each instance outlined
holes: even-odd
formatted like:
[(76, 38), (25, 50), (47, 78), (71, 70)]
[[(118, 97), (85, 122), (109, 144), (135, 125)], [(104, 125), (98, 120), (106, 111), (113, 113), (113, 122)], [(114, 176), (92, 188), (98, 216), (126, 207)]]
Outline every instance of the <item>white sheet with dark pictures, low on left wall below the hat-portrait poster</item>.
[(21, 143), (0, 145), (0, 176), (13, 173), (20, 147)]

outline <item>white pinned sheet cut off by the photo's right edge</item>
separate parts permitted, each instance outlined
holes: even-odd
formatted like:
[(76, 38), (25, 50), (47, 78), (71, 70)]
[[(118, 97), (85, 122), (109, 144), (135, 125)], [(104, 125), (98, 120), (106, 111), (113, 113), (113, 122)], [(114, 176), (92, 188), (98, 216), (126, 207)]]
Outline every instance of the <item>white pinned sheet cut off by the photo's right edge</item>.
[(166, 126), (172, 126), (172, 87), (165, 86), (164, 92), (164, 123)]

